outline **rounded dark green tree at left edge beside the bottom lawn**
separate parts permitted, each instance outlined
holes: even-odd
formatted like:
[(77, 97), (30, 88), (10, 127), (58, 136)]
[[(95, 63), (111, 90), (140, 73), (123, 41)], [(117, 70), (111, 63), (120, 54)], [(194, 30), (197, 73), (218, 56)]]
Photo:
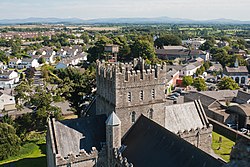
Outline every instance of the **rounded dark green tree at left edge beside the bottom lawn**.
[(21, 140), (13, 126), (0, 123), (0, 160), (16, 155), (21, 148)]

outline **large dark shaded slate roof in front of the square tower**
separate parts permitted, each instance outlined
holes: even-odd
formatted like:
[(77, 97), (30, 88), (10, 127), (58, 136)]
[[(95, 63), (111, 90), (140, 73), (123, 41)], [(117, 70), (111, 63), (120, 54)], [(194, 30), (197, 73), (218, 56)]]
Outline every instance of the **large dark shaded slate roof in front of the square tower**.
[(140, 116), (122, 140), (122, 152), (136, 167), (221, 167), (223, 162), (164, 127)]

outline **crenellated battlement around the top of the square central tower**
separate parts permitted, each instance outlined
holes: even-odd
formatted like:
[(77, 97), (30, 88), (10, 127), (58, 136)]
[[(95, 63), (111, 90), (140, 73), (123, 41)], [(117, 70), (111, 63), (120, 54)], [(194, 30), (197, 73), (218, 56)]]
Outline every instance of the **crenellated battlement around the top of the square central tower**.
[(143, 82), (166, 78), (166, 63), (148, 65), (144, 59), (130, 63), (106, 63), (97, 61), (97, 79), (112, 82)]

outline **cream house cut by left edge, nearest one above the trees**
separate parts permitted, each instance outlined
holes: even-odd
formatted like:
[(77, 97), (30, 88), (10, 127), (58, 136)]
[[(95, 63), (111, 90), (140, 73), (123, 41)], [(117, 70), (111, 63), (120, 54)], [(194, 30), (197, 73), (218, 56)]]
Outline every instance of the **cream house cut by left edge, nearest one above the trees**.
[(16, 110), (15, 108), (15, 98), (14, 96), (7, 95), (5, 93), (0, 92), (0, 112), (1, 111), (13, 111)]

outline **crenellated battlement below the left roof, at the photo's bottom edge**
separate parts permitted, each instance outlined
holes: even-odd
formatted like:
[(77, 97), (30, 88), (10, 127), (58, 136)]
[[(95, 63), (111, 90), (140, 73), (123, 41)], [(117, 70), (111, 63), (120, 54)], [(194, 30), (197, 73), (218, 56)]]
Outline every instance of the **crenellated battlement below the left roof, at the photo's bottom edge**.
[(66, 157), (62, 157), (60, 154), (56, 154), (56, 164), (58, 166), (67, 165), (70, 163), (79, 163), (82, 161), (87, 161), (91, 159), (95, 159), (98, 157), (98, 151), (95, 147), (92, 147), (90, 153), (87, 153), (85, 150), (81, 150), (79, 154), (68, 154)]

